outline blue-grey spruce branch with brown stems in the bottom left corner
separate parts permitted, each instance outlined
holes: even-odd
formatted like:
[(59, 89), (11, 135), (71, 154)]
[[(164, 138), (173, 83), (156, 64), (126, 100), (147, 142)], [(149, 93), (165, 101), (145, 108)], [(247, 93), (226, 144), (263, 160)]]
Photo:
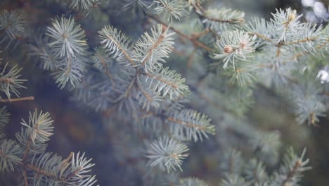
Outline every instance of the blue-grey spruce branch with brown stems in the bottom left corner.
[(71, 153), (67, 159), (62, 159), (45, 152), (53, 131), (52, 123), (49, 113), (37, 110), (30, 113), (28, 123), (22, 120), (24, 128), (16, 133), (18, 143), (1, 141), (0, 172), (21, 168), (25, 185), (94, 185), (96, 177), (89, 175), (94, 164), (84, 154)]

